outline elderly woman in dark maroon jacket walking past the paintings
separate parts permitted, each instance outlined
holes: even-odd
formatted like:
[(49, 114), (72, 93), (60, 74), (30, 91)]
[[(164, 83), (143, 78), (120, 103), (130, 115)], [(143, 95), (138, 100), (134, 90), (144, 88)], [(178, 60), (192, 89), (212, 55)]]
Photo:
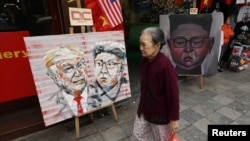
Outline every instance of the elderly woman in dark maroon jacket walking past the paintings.
[(164, 37), (156, 27), (144, 29), (140, 36), (141, 96), (133, 131), (138, 141), (167, 141), (179, 127), (177, 73), (160, 52)]

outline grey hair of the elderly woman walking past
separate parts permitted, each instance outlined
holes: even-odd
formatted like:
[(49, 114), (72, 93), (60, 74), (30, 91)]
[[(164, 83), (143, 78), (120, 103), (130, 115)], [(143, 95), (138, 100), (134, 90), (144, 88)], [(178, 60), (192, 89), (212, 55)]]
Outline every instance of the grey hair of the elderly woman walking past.
[[(158, 27), (147, 27), (144, 30), (142, 30), (141, 34), (143, 33), (150, 33), (152, 35), (152, 41), (154, 44), (160, 43), (161, 44), (161, 48), (166, 44), (165, 41), (165, 36), (164, 36), (164, 32), (158, 28)], [(161, 49), (160, 48), (160, 49)]]

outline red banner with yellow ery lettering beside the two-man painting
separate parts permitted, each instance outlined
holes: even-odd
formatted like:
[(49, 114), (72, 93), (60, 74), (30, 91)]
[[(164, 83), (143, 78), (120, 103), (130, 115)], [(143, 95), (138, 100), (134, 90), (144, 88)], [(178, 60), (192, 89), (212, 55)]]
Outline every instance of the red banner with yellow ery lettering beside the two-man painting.
[(28, 31), (0, 32), (0, 103), (36, 95), (23, 37)]

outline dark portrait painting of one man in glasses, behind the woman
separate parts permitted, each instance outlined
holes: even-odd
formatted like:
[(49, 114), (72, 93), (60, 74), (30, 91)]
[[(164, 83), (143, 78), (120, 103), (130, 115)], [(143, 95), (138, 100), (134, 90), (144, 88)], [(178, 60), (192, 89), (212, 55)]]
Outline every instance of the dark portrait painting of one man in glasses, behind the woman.
[(221, 48), (221, 14), (160, 15), (160, 28), (178, 74), (213, 75)]

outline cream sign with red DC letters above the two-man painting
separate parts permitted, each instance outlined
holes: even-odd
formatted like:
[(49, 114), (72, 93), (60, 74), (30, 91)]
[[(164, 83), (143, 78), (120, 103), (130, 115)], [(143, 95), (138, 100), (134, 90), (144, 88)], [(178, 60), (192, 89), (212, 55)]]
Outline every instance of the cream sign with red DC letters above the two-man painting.
[(93, 18), (91, 9), (69, 7), (71, 26), (92, 26)]

